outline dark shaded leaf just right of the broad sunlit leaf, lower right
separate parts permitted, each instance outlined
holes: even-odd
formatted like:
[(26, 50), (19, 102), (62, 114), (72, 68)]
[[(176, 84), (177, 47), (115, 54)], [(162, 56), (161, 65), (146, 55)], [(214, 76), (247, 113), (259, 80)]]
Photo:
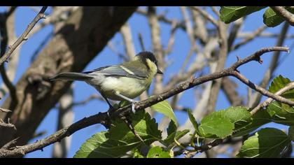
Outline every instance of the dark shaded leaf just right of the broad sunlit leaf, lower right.
[(252, 119), (253, 120), (250, 124), (235, 131), (235, 134), (233, 134), (233, 136), (244, 136), (252, 131), (255, 131), (255, 129), (258, 129), (258, 127), (272, 121), (269, 113), (267, 113), (267, 111), (263, 109), (258, 110), (258, 112), (253, 115)]

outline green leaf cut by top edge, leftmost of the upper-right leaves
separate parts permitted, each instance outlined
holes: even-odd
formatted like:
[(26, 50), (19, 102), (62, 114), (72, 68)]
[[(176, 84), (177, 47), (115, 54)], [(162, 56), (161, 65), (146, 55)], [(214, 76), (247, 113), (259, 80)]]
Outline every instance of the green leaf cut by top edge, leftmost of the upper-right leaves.
[(221, 20), (228, 24), (262, 8), (265, 8), (265, 6), (222, 6), (220, 10)]

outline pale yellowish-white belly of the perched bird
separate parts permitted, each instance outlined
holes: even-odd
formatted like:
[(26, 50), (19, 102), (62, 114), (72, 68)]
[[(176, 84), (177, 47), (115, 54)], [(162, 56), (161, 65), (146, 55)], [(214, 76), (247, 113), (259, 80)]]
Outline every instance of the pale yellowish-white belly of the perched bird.
[(109, 77), (100, 84), (101, 87), (93, 86), (108, 99), (122, 101), (123, 99), (114, 94), (113, 88), (120, 94), (123, 94), (123, 96), (134, 99), (142, 94), (149, 85), (150, 83), (147, 83), (146, 80), (134, 81), (134, 78)]

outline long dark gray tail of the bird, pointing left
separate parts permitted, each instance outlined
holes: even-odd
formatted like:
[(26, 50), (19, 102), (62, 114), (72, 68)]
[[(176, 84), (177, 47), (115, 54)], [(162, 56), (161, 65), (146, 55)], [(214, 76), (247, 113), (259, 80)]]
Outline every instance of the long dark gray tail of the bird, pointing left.
[(65, 72), (65, 73), (60, 73), (57, 76), (54, 76), (50, 78), (51, 81), (54, 80), (79, 80), (79, 81), (85, 81), (89, 80), (92, 78), (86, 73), (74, 73), (74, 72)]

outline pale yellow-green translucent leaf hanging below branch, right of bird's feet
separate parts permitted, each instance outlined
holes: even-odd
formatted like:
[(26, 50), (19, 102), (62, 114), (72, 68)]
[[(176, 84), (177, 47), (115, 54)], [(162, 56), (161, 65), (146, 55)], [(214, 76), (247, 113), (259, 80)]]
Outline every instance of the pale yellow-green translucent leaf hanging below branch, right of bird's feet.
[(174, 110), (172, 110), (172, 107), (169, 105), (168, 101), (161, 101), (159, 103), (156, 103), (155, 105), (151, 106), (152, 110), (157, 111), (158, 113), (162, 113), (163, 115), (166, 115), (171, 120), (176, 122), (176, 116), (174, 115)]

